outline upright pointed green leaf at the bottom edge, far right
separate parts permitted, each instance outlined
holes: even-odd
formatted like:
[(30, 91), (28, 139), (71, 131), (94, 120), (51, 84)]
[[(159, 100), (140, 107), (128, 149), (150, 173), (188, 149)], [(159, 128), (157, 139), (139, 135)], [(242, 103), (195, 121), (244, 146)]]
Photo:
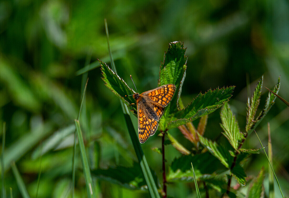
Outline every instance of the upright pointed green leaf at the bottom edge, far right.
[[(264, 196), (264, 187), (263, 187), (264, 178), (265, 178), (264, 167), (262, 167), (258, 177), (255, 179), (252, 187), (250, 188), (250, 191), (248, 193), (248, 198), (263, 197)], [(263, 196), (262, 196), (262, 194), (263, 194)]]

